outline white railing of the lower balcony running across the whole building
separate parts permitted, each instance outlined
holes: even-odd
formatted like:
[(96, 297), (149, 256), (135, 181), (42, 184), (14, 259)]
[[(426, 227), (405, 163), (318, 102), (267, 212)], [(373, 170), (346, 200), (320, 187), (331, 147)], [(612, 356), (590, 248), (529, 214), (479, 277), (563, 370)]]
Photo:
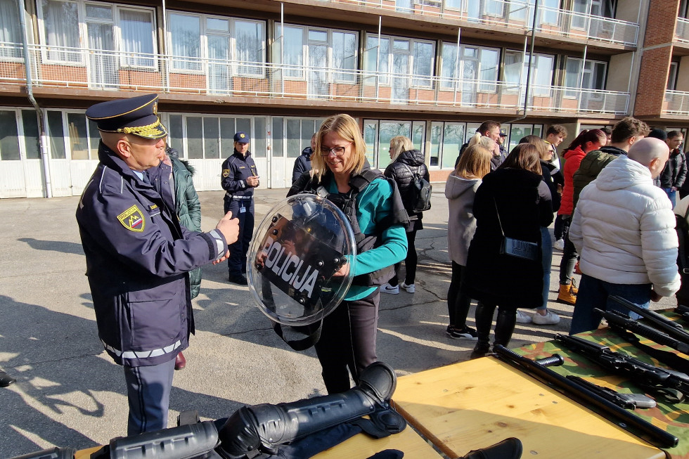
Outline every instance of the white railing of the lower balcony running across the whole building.
[[(311, 99), (519, 110), (516, 82), (29, 46), (32, 84), (44, 88)], [(18, 54), (21, 56), (21, 53)], [(22, 58), (0, 58), (0, 86), (26, 82)], [(629, 93), (532, 86), (529, 110), (625, 114)]]

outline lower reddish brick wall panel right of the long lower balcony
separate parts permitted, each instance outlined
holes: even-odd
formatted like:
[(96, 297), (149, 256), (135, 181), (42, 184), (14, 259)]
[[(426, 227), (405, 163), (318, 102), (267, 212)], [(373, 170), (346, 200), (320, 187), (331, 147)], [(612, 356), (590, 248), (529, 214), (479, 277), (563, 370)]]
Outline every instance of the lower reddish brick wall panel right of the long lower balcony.
[(643, 51), (636, 86), (635, 116), (658, 116), (665, 98), (672, 46)]

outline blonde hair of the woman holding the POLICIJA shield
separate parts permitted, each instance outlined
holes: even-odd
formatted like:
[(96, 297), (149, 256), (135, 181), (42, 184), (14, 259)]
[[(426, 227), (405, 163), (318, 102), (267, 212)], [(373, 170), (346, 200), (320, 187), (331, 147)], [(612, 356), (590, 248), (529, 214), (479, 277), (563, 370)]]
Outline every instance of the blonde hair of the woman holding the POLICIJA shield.
[(330, 170), (325, 158), (321, 156), (323, 137), (330, 132), (334, 132), (345, 139), (345, 141), (353, 144), (352, 161), (347, 164), (345, 172), (359, 174), (363, 170), (363, 164), (366, 162), (366, 143), (363, 142), (361, 129), (359, 129), (359, 124), (354, 118), (346, 113), (340, 113), (340, 115), (327, 117), (323, 124), (321, 124), (318, 132), (316, 132), (316, 149), (314, 154), (311, 155), (311, 169), (314, 170), (318, 181), (321, 180), (326, 171)]

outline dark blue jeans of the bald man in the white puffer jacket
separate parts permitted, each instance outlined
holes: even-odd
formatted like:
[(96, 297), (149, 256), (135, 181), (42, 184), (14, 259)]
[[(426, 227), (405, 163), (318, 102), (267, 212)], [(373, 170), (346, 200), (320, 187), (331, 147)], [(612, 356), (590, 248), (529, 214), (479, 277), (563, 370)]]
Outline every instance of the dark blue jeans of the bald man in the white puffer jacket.
[(631, 318), (639, 318), (638, 314), (630, 313), (629, 309), (612, 301), (610, 299), (612, 296), (622, 297), (637, 306), (648, 309), (651, 299), (651, 284), (612, 284), (582, 274), (569, 335), (598, 328), (600, 315), (594, 313), (593, 308), (603, 311), (619, 311)]

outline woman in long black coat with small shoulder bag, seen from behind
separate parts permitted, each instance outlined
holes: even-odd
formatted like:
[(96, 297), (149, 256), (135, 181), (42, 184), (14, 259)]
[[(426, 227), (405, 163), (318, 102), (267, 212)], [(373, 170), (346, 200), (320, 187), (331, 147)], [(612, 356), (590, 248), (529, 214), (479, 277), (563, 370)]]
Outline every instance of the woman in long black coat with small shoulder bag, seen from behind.
[[(553, 222), (550, 190), (541, 175), (539, 151), (517, 145), (494, 172), (483, 178), (474, 199), (476, 233), (469, 246), (465, 292), (478, 300), (478, 341), (472, 358), (490, 350), (493, 313), (498, 307), (494, 344), (507, 346), (515, 329), (517, 307), (536, 308), (543, 298), (541, 226)], [(501, 253), (507, 236), (539, 247), (532, 259)]]

